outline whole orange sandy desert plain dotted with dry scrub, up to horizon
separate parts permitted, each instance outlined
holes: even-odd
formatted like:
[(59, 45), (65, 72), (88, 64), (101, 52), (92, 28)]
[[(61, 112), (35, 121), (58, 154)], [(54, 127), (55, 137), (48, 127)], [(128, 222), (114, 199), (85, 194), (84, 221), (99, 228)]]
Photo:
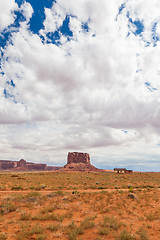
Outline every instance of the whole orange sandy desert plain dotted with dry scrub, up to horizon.
[(160, 173), (1, 172), (3, 239), (159, 240)]

